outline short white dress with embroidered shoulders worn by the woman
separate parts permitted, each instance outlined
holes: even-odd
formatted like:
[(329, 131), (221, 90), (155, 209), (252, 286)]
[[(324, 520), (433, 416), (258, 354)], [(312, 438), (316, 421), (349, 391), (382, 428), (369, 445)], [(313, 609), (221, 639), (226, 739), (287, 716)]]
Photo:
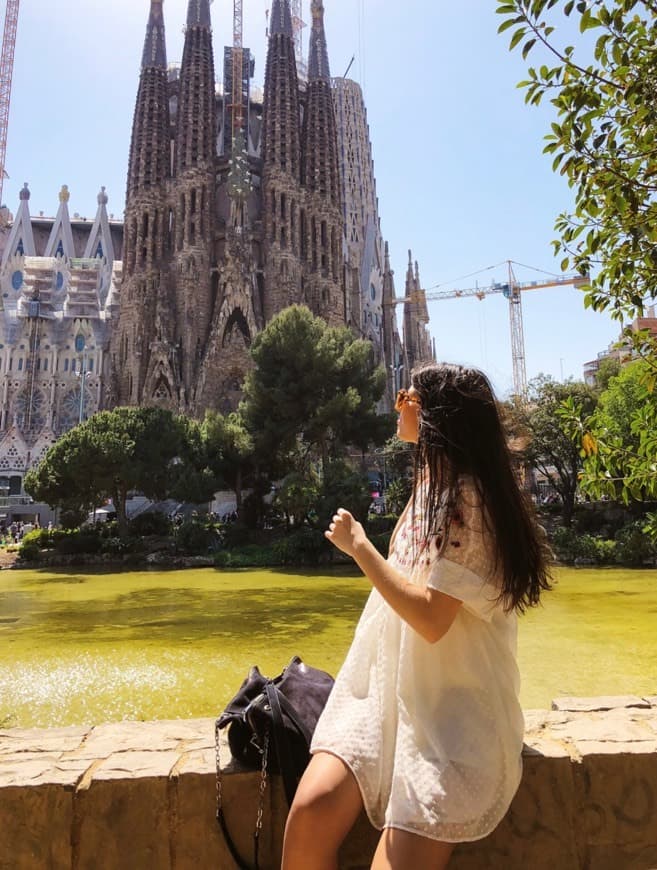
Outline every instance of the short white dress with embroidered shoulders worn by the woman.
[(461, 486), (444, 555), (414, 558), (422, 512), (407, 507), (388, 562), (412, 583), (463, 604), (425, 641), (372, 590), (311, 751), (352, 770), (379, 829), (445, 842), (478, 840), (501, 821), (522, 772), (517, 622), (497, 602), (499, 576), (471, 481)]

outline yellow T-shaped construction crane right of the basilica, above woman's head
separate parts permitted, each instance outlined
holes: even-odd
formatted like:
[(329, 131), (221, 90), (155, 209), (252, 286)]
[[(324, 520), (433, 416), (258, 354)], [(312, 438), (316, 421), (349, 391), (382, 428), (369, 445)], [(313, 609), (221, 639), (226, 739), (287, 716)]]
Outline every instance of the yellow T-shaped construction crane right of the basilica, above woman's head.
[(509, 300), (509, 326), (511, 330), (511, 357), (513, 360), (513, 388), (520, 399), (527, 396), (527, 368), (525, 365), (525, 333), (522, 322), (522, 293), (526, 290), (544, 290), (547, 287), (581, 287), (589, 283), (588, 275), (564, 275), (547, 281), (517, 281), (511, 260), (507, 260), (509, 279), (505, 283), (494, 283), (488, 287), (472, 287), (467, 290), (421, 291), (419, 294), (402, 296), (392, 301), (392, 305), (413, 304), (421, 300), (440, 302), (444, 299), (476, 298), (482, 301), (487, 296), (501, 293)]

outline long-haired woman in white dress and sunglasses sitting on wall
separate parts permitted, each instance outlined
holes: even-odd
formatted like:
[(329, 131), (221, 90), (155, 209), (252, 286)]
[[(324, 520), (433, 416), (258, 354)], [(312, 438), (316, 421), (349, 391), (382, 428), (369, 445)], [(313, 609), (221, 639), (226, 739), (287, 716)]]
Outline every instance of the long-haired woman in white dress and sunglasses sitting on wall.
[(363, 807), (374, 870), (443, 868), (489, 834), (521, 776), (516, 613), (550, 588), (491, 386), (430, 365), (397, 400), (417, 444), (413, 494), (385, 560), (346, 510), (326, 537), (374, 587), (313, 738), (283, 870), (334, 870)]

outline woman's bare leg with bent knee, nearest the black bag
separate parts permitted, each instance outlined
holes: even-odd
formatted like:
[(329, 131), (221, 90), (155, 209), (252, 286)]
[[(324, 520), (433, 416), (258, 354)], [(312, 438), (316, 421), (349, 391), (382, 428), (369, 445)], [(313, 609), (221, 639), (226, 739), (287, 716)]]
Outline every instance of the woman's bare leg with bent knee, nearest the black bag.
[(337, 870), (338, 849), (362, 809), (347, 765), (328, 752), (313, 755), (285, 826), (282, 870)]

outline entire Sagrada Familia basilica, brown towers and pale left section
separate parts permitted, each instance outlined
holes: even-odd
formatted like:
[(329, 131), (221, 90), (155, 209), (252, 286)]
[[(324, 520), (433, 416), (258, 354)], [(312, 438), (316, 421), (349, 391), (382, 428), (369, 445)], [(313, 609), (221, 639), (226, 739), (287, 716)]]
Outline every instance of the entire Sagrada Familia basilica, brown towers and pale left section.
[[(307, 65), (289, 0), (273, 0), (264, 90), (247, 48), (217, 85), (210, 0), (189, 0), (169, 64), (151, 0), (125, 219), (0, 211), (0, 488), (101, 408), (161, 404), (201, 417), (237, 406), (254, 336), (299, 303), (372, 343), (388, 382), (433, 357), (409, 253), (400, 336), (360, 87), (332, 78), (322, 0)], [(127, 147), (127, 143), (126, 143)]]

